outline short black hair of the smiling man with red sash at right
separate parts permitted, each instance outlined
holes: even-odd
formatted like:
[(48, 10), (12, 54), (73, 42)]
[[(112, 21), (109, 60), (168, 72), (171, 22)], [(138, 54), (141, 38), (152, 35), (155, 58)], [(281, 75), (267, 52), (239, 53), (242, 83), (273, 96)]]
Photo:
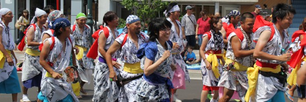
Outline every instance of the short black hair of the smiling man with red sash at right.
[(272, 12), (272, 22), (276, 23), (277, 17), (281, 18), (282, 20), (289, 15), (290, 13), (296, 14), (295, 9), (292, 6), (289, 6), (287, 4), (277, 4), (275, 8), (273, 8)]

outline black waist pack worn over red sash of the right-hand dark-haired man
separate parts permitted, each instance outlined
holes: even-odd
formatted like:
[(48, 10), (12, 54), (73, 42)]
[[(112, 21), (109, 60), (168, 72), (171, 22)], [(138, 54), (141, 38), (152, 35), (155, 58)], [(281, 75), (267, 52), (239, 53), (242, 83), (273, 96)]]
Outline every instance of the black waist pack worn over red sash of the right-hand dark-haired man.
[(265, 71), (259, 71), (261, 75), (264, 77), (274, 77), (278, 79), (279, 83), (283, 84), (283, 87), (285, 87), (285, 84), (287, 83), (287, 74), (284, 72), (278, 72), (278, 73), (273, 73), (273, 72), (265, 72)]

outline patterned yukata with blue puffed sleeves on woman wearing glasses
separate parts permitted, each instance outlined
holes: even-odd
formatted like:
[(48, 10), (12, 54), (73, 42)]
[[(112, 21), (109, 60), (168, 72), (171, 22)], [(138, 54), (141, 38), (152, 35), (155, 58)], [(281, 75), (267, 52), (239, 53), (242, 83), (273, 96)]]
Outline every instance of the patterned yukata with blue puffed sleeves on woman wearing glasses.
[[(170, 42), (170, 43), (169, 43)], [(172, 42), (167, 41), (167, 49), (164, 49), (164, 47), (156, 41), (154, 42), (148, 42), (148, 45), (144, 48), (144, 52), (150, 53), (150, 54), (144, 54), (145, 57), (141, 59), (141, 68), (144, 69), (144, 63), (145, 59), (148, 56), (148, 59), (154, 59), (153, 63), (155, 63), (157, 60), (162, 58), (163, 53), (166, 50), (172, 49)], [(171, 45), (170, 45), (171, 44)], [(147, 51), (149, 50), (149, 51)], [(151, 54), (153, 53), (153, 54)], [(158, 68), (155, 70), (154, 73), (157, 75), (160, 75), (163, 78), (169, 78), (169, 72), (171, 71), (170, 64), (172, 62), (172, 56), (168, 57), (167, 60), (162, 62)], [(153, 74), (153, 73), (152, 73)], [(161, 80), (161, 79), (157, 79)], [(136, 100), (137, 101), (162, 101), (164, 99), (170, 99), (169, 95), (169, 89), (167, 86), (167, 82), (163, 84), (158, 84), (158, 83), (151, 83), (148, 82), (144, 76), (140, 79), (140, 83), (137, 84), (137, 90), (136, 90)]]

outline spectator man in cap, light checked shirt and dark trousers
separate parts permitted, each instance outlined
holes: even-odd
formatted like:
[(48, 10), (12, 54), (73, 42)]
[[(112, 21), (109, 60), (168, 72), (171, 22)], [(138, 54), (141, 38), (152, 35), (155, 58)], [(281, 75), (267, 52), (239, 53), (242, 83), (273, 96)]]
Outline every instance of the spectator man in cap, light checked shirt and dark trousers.
[(192, 6), (186, 7), (186, 15), (182, 18), (182, 32), (186, 35), (187, 45), (195, 46), (195, 16), (192, 14)]

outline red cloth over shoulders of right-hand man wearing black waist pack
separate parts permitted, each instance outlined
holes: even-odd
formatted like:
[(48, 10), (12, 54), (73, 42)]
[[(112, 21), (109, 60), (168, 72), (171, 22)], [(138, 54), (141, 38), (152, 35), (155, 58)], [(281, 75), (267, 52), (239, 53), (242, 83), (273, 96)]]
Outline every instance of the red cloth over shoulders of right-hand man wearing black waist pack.
[[(269, 41), (270, 41), (275, 34), (273, 23), (266, 21), (261, 15), (256, 16), (254, 27), (253, 27), (253, 33), (255, 33), (260, 27), (264, 27), (264, 26), (268, 26), (271, 28), (271, 36), (269, 38)], [(254, 42), (257, 42), (257, 41), (254, 41)]]

